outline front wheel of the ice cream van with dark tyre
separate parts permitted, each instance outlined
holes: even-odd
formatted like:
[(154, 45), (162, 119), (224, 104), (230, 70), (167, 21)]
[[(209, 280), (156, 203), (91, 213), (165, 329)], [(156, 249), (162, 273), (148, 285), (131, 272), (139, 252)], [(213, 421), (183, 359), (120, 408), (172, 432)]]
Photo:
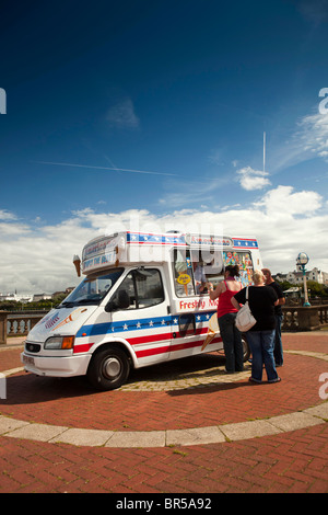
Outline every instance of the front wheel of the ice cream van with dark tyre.
[(129, 373), (130, 363), (126, 353), (117, 347), (108, 347), (93, 356), (87, 379), (99, 390), (115, 390), (126, 382)]

